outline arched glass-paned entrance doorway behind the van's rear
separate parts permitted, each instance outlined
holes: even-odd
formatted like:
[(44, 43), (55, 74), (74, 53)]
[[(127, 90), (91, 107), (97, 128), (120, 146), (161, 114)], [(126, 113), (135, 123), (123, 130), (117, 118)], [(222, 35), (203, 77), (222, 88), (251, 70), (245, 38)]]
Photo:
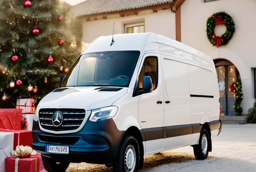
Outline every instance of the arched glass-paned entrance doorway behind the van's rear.
[(220, 88), (220, 105), (222, 107), (222, 114), (235, 115), (234, 110), (234, 82), (239, 77), (239, 72), (236, 66), (225, 59), (214, 60), (218, 84)]

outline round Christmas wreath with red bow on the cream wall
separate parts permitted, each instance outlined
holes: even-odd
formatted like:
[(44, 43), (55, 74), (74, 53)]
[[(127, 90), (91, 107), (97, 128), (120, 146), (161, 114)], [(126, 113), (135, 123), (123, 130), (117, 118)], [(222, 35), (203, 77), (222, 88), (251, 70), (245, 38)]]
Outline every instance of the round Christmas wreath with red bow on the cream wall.
[[(214, 28), (216, 25), (222, 24), (226, 26), (226, 32), (222, 34), (222, 36), (216, 36)], [(219, 47), (228, 44), (235, 32), (235, 24), (232, 17), (226, 12), (217, 12), (208, 18), (206, 23), (206, 32), (211, 44)]]

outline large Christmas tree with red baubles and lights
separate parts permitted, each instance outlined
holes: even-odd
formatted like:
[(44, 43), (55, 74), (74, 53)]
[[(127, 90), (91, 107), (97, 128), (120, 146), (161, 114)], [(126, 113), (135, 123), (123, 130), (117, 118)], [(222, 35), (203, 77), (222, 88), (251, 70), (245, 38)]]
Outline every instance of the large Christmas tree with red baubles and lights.
[(78, 22), (67, 15), (60, 0), (0, 1), (0, 97), (8, 97), (3, 107), (14, 107), (17, 98), (38, 103), (58, 87), (81, 52), (70, 28)]

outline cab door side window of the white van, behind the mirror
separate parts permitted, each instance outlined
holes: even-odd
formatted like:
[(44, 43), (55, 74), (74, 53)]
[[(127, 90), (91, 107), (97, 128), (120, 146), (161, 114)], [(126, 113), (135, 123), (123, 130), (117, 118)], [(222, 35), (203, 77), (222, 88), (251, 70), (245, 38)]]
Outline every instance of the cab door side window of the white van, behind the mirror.
[(150, 76), (152, 80), (153, 90), (157, 88), (158, 83), (158, 62), (157, 57), (149, 56), (146, 57), (139, 74), (139, 95), (142, 94), (143, 88), (143, 77)]

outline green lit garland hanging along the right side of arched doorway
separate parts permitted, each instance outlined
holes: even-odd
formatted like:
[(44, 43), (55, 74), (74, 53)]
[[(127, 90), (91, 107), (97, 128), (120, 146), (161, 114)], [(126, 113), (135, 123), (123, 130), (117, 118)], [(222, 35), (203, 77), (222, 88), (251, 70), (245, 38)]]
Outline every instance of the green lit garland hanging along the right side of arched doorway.
[(242, 82), (240, 79), (236, 79), (234, 82), (234, 98), (235, 98), (235, 104), (234, 109), (237, 113), (237, 115), (241, 115), (243, 112), (243, 108), (240, 107), (240, 104), (243, 100), (243, 93), (242, 93)]

